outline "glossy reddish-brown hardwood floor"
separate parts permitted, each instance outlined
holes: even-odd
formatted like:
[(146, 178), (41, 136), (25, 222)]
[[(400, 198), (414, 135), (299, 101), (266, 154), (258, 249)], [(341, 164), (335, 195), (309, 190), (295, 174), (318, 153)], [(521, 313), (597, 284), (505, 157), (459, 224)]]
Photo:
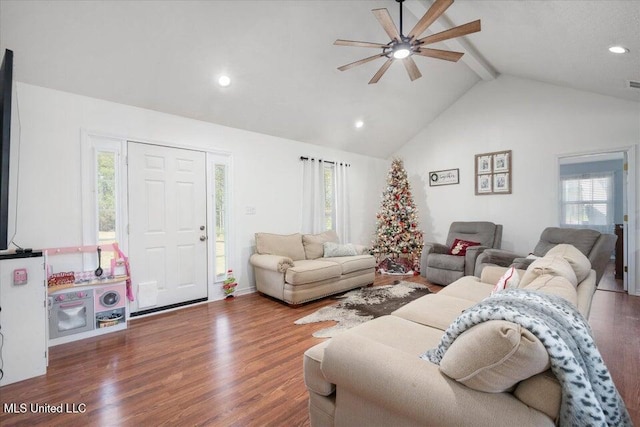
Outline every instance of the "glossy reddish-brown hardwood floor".
[[(395, 279), (378, 276), (375, 284)], [(322, 341), (311, 333), (326, 325), (293, 322), (333, 302), (291, 308), (251, 294), (52, 347), (46, 375), (0, 388), (0, 425), (307, 426), (302, 353)], [(599, 290), (590, 323), (640, 425), (640, 298)], [(86, 411), (9, 414), (10, 403)]]

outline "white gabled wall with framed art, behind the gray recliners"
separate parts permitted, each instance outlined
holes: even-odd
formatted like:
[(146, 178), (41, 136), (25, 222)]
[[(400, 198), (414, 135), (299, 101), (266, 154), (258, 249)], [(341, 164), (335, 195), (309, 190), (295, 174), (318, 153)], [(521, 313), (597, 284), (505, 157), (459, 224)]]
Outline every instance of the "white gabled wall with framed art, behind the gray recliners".
[[(451, 221), (487, 220), (504, 224), (503, 249), (528, 253), (559, 222), (558, 156), (639, 142), (638, 103), (503, 75), (479, 82), (396, 154), (426, 240), (444, 242)], [(500, 150), (513, 150), (513, 193), (476, 196), (474, 155)], [(450, 168), (460, 168), (459, 185), (429, 187), (429, 171)], [(629, 214), (640, 224), (638, 206)]]

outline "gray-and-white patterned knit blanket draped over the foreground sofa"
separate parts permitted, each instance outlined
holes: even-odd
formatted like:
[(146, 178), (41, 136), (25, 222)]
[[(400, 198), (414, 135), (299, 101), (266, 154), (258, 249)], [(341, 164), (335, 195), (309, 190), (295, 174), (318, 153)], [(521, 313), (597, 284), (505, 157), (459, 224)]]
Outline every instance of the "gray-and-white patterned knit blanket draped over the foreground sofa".
[(420, 357), (439, 365), (456, 337), (489, 320), (519, 324), (545, 346), (551, 370), (562, 387), (560, 426), (633, 425), (587, 320), (555, 295), (525, 289), (497, 292), (465, 310), (445, 331), (440, 344)]

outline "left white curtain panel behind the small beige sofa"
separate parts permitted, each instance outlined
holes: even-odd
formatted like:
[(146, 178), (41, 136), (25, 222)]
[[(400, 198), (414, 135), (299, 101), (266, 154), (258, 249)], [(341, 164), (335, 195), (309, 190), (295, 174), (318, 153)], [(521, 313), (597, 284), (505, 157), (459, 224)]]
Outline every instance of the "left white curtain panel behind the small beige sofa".
[(302, 232), (325, 231), (324, 162), (304, 160), (302, 173)]

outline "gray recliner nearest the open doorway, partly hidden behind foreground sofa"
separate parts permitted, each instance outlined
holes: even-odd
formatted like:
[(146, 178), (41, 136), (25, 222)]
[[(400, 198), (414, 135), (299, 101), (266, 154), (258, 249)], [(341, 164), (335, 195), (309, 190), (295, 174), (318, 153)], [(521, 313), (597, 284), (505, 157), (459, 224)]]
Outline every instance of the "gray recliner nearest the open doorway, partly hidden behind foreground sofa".
[[(549, 249), (561, 243), (573, 245), (589, 258), (591, 268), (596, 272), (596, 284), (598, 284), (604, 274), (607, 263), (611, 259), (617, 239), (614, 234), (603, 234), (599, 231), (585, 228), (547, 227), (542, 231), (540, 241), (536, 244), (531, 254), (542, 257)], [(474, 275), (480, 277), (482, 269), (487, 265), (501, 267), (513, 265), (516, 268), (526, 270), (533, 261), (534, 259), (527, 258), (527, 255), (499, 249), (488, 249), (483, 251), (476, 259)]]

